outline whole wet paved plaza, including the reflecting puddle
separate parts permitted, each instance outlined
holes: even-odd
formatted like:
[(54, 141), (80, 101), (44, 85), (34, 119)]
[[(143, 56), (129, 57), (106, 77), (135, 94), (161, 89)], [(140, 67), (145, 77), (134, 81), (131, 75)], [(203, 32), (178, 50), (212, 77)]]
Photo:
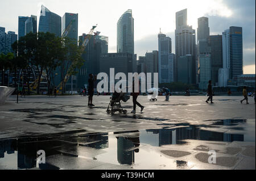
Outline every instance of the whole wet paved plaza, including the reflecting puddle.
[[(0, 105), (0, 169), (255, 169), (254, 104), (235, 96), (216, 96), (214, 105), (204, 96), (146, 98), (134, 116), (106, 113), (109, 96), (95, 96), (93, 108), (80, 96), (19, 104), (11, 97)], [(132, 103), (122, 106), (130, 112)], [(36, 162), (38, 150), (46, 163)]]

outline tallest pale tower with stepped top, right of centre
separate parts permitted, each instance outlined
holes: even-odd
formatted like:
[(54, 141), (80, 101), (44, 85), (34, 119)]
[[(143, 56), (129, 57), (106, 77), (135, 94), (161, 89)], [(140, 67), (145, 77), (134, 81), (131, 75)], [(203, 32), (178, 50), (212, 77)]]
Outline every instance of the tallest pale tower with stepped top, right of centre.
[[(175, 53), (180, 56), (192, 56), (192, 83), (196, 83), (196, 31), (187, 25), (187, 9), (176, 12)], [(177, 60), (178, 61), (178, 60)]]

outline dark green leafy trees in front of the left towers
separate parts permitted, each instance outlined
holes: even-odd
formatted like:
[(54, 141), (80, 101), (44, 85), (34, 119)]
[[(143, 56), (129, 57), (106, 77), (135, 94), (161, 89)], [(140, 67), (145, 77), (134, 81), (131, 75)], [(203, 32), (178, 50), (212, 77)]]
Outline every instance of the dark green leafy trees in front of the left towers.
[[(0, 56), (1, 68), (5, 66), (9, 69), (29, 70), (31, 66), (38, 69), (38, 93), (40, 89), (40, 77), (46, 71), (48, 87), (52, 82), (52, 74), (58, 66), (61, 66), (61, 81), (65, 75), (75, 75), (77, 68), (81, 68), (83, 60), (81, 58), (81, 48), (77, 42), (68, 37), (61, 38), (49, 32), (28, 33), (20, 37), (13, 45), (13, 50), (18, 52), (18, 56), (11, 58), (11, 62)], [(10, 57), (10, 55), (7, 54)]]

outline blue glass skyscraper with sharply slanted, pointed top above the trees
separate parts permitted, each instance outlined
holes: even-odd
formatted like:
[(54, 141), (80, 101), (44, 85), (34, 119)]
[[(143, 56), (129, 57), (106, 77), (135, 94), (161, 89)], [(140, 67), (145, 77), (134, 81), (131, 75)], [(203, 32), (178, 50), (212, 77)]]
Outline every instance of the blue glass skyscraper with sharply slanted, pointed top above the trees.
[(56, 36), (61, 36), (61, 17), (42, 5), (39, 19), (38, 32), (55, 33)]

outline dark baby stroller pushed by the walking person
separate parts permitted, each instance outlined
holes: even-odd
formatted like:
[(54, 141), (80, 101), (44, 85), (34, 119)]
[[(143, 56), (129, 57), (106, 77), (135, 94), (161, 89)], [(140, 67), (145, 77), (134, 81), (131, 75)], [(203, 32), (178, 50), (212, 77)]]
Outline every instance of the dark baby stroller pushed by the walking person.
[(119, 113), (123, 113), (123, 114), (127, 113), (127, 110), (123, 110), (123, 108), (121, 106), (121, 100), (123, 102), (127, 102), (127, 100), (130, 99), (129, 95), (126, 95), (123, 92), (118, 93), (115, 91), (110, 99), (111, 100), (110, 100), (108, 109), (106, 110), (107, 113), (112, 113), (112, 115), (114, 115), (114, 113), (117, 111)]

